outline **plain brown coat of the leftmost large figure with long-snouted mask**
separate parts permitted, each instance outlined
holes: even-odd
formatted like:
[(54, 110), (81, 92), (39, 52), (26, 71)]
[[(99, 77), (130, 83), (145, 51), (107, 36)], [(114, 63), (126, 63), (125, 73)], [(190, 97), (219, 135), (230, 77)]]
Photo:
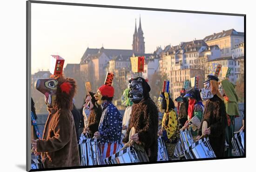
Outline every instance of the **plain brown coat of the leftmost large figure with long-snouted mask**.
[(48, 108), (43, 138), (37, 142), (45, 168), (80, 166), (74, 118), (70, 110)]

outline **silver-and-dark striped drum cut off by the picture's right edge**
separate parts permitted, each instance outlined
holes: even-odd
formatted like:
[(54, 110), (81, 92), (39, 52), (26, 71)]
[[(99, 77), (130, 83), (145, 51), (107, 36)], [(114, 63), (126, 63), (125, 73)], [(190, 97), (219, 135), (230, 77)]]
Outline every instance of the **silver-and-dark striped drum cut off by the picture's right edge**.
[(237, 156), (244, 155), (244, 132), (240, 131), (235, 134), (235, 136), (231, 140), (232, 146), (235, 149)]

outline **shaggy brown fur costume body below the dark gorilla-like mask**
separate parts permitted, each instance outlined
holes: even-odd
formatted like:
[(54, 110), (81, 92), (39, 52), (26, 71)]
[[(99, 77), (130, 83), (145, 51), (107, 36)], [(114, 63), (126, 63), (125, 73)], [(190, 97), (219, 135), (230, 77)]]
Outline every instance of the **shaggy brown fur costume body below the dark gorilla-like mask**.
[(152, 99), (142, 99), (140, 103), (133, 105), (130, 123), (123, 139), (124, 143), (128, 142), (132, 127), (135, 127), (135, 133), (138, 133), (139, 141), (144, 145), (149, 161), (156, 161), (158, 110)]

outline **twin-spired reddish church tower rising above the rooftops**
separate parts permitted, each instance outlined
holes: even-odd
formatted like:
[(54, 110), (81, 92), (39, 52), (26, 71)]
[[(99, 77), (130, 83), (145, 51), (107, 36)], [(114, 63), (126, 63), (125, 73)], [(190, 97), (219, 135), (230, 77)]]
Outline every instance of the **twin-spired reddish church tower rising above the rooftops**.
[(135, 19), (135, 32), (133, 34), (133, 51), (134, 53), (145, 53), (145, 42), (143, 37), (143, 31), (141, 28), (141, 16), (140, 16), (140, 24), (137, 31), (136, 19)]

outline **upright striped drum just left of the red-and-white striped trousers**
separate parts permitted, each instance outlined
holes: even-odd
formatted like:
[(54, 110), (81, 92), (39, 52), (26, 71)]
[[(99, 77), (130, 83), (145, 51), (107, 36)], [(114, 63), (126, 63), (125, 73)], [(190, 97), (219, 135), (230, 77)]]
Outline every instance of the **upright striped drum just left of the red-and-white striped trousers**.
[(101, 144), (98, 139), (81, 138), (79, 142), (81, 165), (102, 165)]

